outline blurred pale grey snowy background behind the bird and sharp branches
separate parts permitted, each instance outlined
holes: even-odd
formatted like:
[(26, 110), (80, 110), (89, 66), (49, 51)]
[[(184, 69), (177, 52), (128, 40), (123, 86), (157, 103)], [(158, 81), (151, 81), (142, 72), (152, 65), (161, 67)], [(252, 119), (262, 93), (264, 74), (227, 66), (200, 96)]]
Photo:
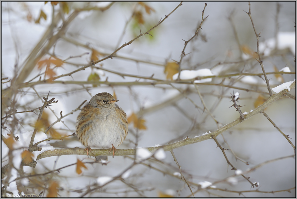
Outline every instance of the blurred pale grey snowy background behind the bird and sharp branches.
[[(75, 71), (90, 64), (91, 60), (107, 57), (125, 42), (138, 36), (140, 30), (144, 33), (155, 26), (179, 5), (179, 2), (117, 2), (104, 12), (100, 11), (100, 8), (109, 4), (67, 2), (52, 6), (50, 2), (2, 2), (1, 76), (8, 78), (2, 80), (2, 137), (9, 138), (7, 134), (13, 133), (23, 140), (28, 140), (24, 141), (28, 144), (32, 134), (30, 131), (36, 127), (39, 111), (35, 111), (37, 114), (28, 112), (4, 117), (8, 110), (12, 109), (9, 104), (14, 104), (17, 111), (29, 111), (42, 106), (42, 98), (46, 97), (48, 92), (49, 99), (54, 97), (58, 103), (50, 106), (52, 111), (45, 109), (43, 120), (48, 122), (43, 124), (45, 128), (60, 117), (61, 111), (63, 115), (68, 114), (97, 93), (109, 92), (116, 95), (119, 100), (117, 104), (125, 110), (127, 116), (138, 114), (138, 119), (143, 119), (146, 127), (138, 129), (137, 125), (130, 123), (128, 136), (119, 149), (163, 145), (180, 141), (187, 136), (194, 138), (214, 131), (240, 116), (234, 107), (229, 108), (232, 106), (230, 100), (233, 92), (240, 94), (238, 104), (244, 105), (242, 112), (250, 112), (258, 107), (261, 101), (268, 99), (263, 76), (228, 76), (237, 73), (262, 73), (258, 61), (253, 58), (257, 43), (251, 20), (246, 13), (249, 11), (248, 2), (207, 3), (204, 18), (208, 17), (203, 22), (199, 35), (188, 43), (186, 56), (180, 64), (182, 70), (207, 68), (217, 76), (202, 82), (205, 84), (198, 85), (197, 89), (218, 123), (208, 111), (203, 111), (201, 99), (191, 82), (171, 82), (172, 75), (176, 73), (175, 61), (181, 59), (185, 41), (195, 35), (205, 2), (183, 2), (182, 6), (150, 32), (151, 35), (138, 38), (119, 50), (112, 59), (99, 62), (95, 65), (96, 68), (88, 67), (71, 76), (52, 81), (51, 78)], [(274, 73), (284, 68), (286, 72), (282, 75), (268, 75), (271, 88), (295, 79), (295, 8), (295, 2), (251, 3), (256, 31), (261, 32), (259, 41), (260, 50), (264, 53), (262, 60), (265, 71)], [(77, 15), (70, 21), (69, 17), (74, 16), (74, 12), (77, 12)], [(55, 22), (52, 16), (59, 20)], [(66, 28), (61, 33), (64, 27)], [(52, 30), (52, 33), (48, 33), (49, 30)], [(56, 34), (59, 38), (50, 46), (50, 39), (55, 38), (52, 35)], [(44, 38), (44, 35), (47, 37)], [(40, 41), (43, 43), (40, 44)], [(50, 46), (49, 49), (46, 49), (47, 45)], [(45, 50), (45, 53), (40, 59), (37, 59), (39, 54), (36, 53), (32, 59), (32, 64), (36, 66), (24, 77), (22, 74), (25, 63), (34, 50), (39, 54)], [(38, 61), (50, 57), (58, 62), (59, 59), (63, 60), (62, 66), (55, 67), (55, 64), (52, 64), (46, 67), (39, 64), (40, 62), (37, 64)], [(165, 69), (167, 71), (164, 71)], [(171, 77), (168, 75), (170, 72)], [(123, 78), (125, 74), (128, 76)], [(157, 81), (150, 79), (152, 75), (162, 81), (150, 85), (149, 82)], [(16, 90), (11, 91), (11, 82), (14, 82), (17, 76), (23, 80), (18, 82), (20, 86)], [(193, 77), (181, 77), (191, 78)], [(39, 81), (44, 79), (50, 81)], [(10, 82), (3, 83), (9, 80)], [(90, 80), (97, 82), (96, 87)], [(24, 82), (27, 82), (27, 85), (22, 84)], [(9, 92), (13, 100), (6, 98)], [(295, 89), (290, 91), (290, 94), (295, 96)], [(195, 105), (199, 108), (195, 108)], [(295, 105), (293, 99), (281, 98), (265, 109), (272, 121), (289, 135), (294, 145)], [(76, 111), (63, 118), (63, 123), (55, 124), (47, 137), (73, 134), (78, 114), (79, 111)], [(243, 172), (265, 161), (295, 153), (284, 136), (262, 114), (255, 115), (222, 135), (217, 139), (225, 149), (232, 149), (226, 151), (226, 154), (232, 164)], [(39, 139), (45, 139), (42, 132)], [(56, 149), (85, 148), (74, 136), (47, 143)], [(25, 145), (18, 146), (26, 147)], [(2, 141), (2, 167), (8, 164), (8, 151)], [(222, 151), (212, 139), (183, 146), (173, 152), (182, 166), (186, 180), (193, 183), (191, 186), (192, 191), (196, 192), (195, 197), (295, 197), (295, 189), (292, 189), (295, 187), (295, 158), (273, 161), (263, 164), (255, 171), (247, 172), (246, 176), (250, 177), (250, 181), (259, 182), (258, 187), (251, 188), (251, 184), (240, 175), (228, 178), (234, 175), (235, 171), (228, 167)], [(129, 170), (131, 173), (125, 173), (121, 180), (112, 181), (87, 196), (158, 197), (169, 194), (175, 197), (191, 197), (188, 185), (180, 180), (179, 169), (172, 154), (166, 151), (165, 155), (166, 158), (161, 158), (160, 161), (151, 158), (144, 161), (146, 165), (135, 165)], [(24, 167), (26, 175), (43, 175), (24, 177), (12, 182), (20, 176), (18, 169), (21, 158), (20, 153), (17, 153), (13, 163), (16, 168), (12, 168), (7, 191), (13, 194), (39, 194), (44, 191), (43, 194), (47, 195), (50, 192), (48, 187), (52, 187), (52, 182), (57, 182), (59, 197), (78, 197), (105, 184), (106, 179), (110, 180), (121, 174), (131, 166), (133, 158), (134, 156), (115, 156), (109, 158), (107, 165), (85, 164), (87, 169), (83, 168), (82, 174), (78, 174), (75, 165), (65, 166), (75, 164), (77, 159), (91, 162), (94, 158), (80, 155), (53, 156), (38, 160), (35, 168)], [(59, 172), (44, 174), (61, 167), (65, 168)], [(4, 179), (7, 178), (5, 176)], [(203, 190), (205, 181), (215, 183), (216, 188)], [(195, 186), (197, 184), (203, 185)]]

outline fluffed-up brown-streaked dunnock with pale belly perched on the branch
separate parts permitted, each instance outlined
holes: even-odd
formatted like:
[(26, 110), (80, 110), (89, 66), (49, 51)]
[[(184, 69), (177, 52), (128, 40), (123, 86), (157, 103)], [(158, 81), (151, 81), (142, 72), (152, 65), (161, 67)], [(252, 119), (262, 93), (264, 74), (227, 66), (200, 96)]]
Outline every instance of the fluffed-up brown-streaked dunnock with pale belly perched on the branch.
[[(92, 148), (113, 150), (123, 143), (128, 134), (127, 115), (119, 108), (112, 95), (98, 93), (82, 108), (77, 117), (76, 134), (85, 145), (87, 155)], [(107, 160), (107, 156), (97, 156), (96, 160)]]

